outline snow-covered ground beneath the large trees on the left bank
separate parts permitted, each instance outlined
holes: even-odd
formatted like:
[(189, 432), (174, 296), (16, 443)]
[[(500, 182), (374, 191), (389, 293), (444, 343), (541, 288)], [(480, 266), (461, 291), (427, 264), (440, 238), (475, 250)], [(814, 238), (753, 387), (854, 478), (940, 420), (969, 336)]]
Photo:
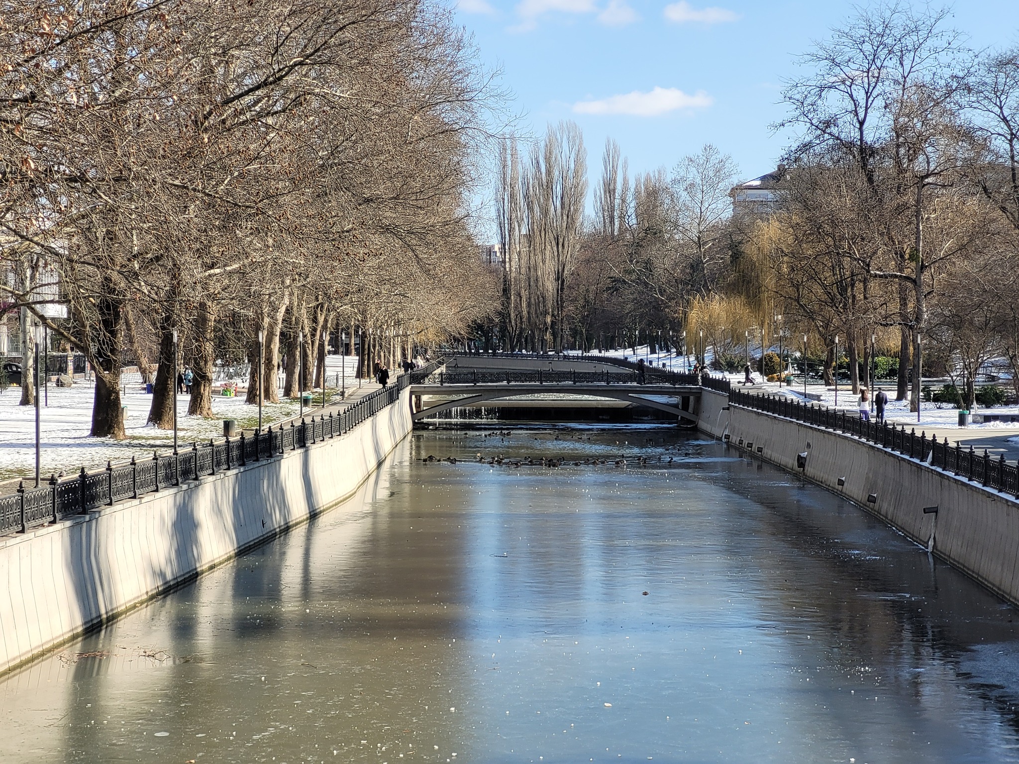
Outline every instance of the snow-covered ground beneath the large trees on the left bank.
[[(357, 387), (354, 379), (357, 359), (330, 356), (326, 359), (327, 373), (331, 376), (343, 369), (347, 387)], [(145, 392), (139, 375), (124, 375), (121, 390), (127, 406), (124, 427), (127, 437), (116, 441), (110, 438), (89, 436), (92, 424), (94, 382), (75, 380), (73, 387), (50, 385), (49, 405), (40, 406), (41, 470), (44, 477), (61, 471), (65, 474), (104, 467), (108, 460), (128, 460), (131, 455), (150, 456), (154, 450), (164, 450), (173, 445), (173, 432), (147, 425), (152, 395)], [(330, 384), (332, 379), (329, 380)], [(42, 391), (40, 391), (42, 397)], [(330, 399), (334, 396), (330, 395)], [(35, 475), (36, 465), (36, 410), (18, 405), (20, 391), (16, 387), (0, 392), (0, 483)], [(258, 405), (245, 402), (244, 390), (236, 397), (212, 396), (214, 419), (187, 416), (187, 395), (177, 396), (177, 441), (190, 445), (194, 441), (208, 441), (223, 434), (221, 420), (233, 419), (239, 428), (258, 426)], [(280, 422), (298, 414), (297, 400), (266, 403), (262, 406), (264, 425)], [(5, 492), (5, 491), (0, 491)]]

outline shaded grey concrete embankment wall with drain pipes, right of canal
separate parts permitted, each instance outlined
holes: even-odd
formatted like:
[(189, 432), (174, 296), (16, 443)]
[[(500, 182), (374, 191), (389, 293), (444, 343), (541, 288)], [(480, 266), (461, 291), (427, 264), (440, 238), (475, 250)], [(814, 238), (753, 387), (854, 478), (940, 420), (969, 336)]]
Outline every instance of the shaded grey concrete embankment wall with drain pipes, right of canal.
[[(728, 398), (718, 393), (706, 391), (702, 398), (706, 413), (728, 405)], [(851, 499), (1019, 603), (1019, 502), (917, 459), (819, 427), (739, 406), (721, 414), (719, 430), (708, 416), (701, 429), (720, 435), (728, 428), (730, 445), (802, 473)], [(806, 468), (801, 471), (796, 457), (804, 452)], [(923, 512), (931, 506), (938, 507), (936, 513)]]

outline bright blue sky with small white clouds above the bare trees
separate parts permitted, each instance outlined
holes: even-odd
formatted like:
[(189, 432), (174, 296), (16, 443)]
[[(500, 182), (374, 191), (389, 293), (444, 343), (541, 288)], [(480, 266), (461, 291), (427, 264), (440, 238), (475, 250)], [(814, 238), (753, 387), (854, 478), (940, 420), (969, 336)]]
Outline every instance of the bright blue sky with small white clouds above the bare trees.
[[(950, 23), (973, 48), (1019, 43), (1019, 0), (956, 2)], [(631, 172), (672, 167), (711, 143), (744, 178), (773, 168), (789, 137), (783, 79), (797, 54), (853, 13), (843, 0), (459, 0), (458, 19), (503, 70), (521, 126), (573, 119), (592, 181), (605, 138)]]

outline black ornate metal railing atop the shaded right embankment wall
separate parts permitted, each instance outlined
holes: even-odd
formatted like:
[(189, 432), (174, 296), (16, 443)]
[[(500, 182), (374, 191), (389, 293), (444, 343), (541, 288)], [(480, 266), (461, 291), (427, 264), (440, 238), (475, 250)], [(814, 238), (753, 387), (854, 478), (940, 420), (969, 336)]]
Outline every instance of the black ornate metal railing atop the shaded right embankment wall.
[(973, 446), (963, 448), (958, 441), (952, 446), (948, 438), (938, 442), (935, 433), (928, 437), (926, 431), (921, 431), (917, 435), (916, 428), (907, 432), (905, 425), (896, 427), (888, 422), (868, 422), (853, 412), (780, 395), (757, 395), (734, 389), (730, 392), (729, 401), (744, 408), (853, 435), (903, 456), (926, 461), (953, 475), (1019, 497), (1019, 461), (1008, 463), (1004, 453), (996, 459), (986, 449), (980, 454)]

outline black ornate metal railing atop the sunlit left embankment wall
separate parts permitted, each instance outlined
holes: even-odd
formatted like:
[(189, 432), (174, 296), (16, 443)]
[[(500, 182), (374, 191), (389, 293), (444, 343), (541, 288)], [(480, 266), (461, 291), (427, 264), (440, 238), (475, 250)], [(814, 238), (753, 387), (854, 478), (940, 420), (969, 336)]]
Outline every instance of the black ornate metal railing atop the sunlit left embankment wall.
[(90, 472), (84, 467), (73, 478), (51, 477), (40, 488), (19, 487), (15, 493), (0, 496), (0, 535), (24, 533), (30, 528), (56, 523), (73, 514), (84, 514), (124, 499), (138, 498), (204, 476), (233, 470), (275, 458), (315, 443), (343, 435), (399, 400), (400, 392), (415, 381), (432, 374), (440, 365), (401, 374), (383, 389), (375, 390), (337, 414), (311, 416), (300, 422), (282, 423), (265, 432), (242, 433), (236, 438), (194, 443), (176, 453), (153, 453), (152, 457), (131, 457), (127, 465)]

